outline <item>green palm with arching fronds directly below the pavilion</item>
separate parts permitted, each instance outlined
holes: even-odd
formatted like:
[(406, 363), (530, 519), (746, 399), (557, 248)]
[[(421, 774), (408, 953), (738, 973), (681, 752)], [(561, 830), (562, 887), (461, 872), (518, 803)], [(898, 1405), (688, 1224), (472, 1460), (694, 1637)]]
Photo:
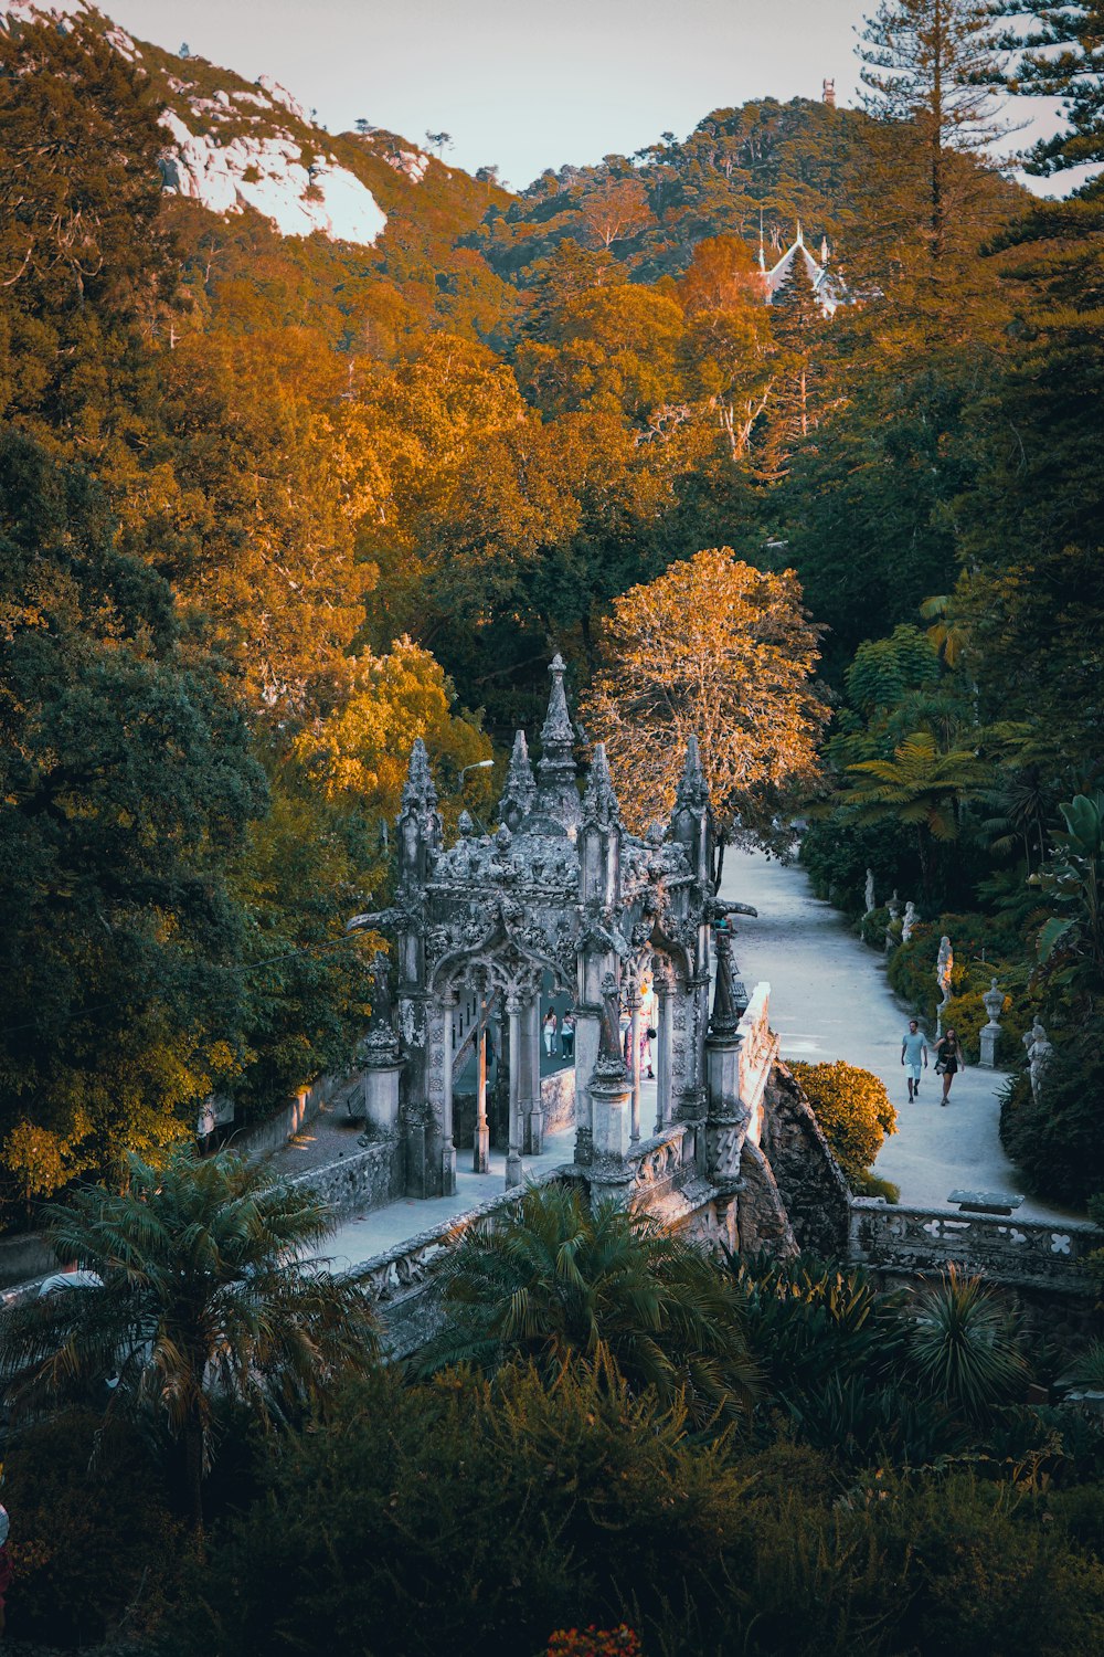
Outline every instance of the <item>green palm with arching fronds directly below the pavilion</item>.
[(755, 1394), (732, 1281), (654, 1220), (588, 1208), (574, 1186), (531, 1186), (505, 1223), (468, 1234), (445, 1306), (425, 1369), (525, 1355), (554, 1372), (569, 1354), (609, 1352), (631, 1385), (682, 1390), (698, 1422)]

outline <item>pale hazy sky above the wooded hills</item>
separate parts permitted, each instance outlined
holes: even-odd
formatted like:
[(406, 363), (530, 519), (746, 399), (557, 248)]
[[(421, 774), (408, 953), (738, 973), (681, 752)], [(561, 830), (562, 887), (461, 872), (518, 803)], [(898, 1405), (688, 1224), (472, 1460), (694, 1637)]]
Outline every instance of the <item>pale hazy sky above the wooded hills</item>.
[(856, 101), (854, 27), (876, 0), (98, 0), (132, 35), (275, 75), (331, 131), (358, 116), (450, 162), (545, 167), (685, 138), (773, 94)]

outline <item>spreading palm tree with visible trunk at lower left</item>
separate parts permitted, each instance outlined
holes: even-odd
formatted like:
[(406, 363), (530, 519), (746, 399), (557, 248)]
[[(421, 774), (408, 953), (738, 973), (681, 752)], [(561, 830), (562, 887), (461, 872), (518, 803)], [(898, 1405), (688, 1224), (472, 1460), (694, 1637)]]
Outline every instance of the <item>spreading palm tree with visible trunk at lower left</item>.
[(46, 1211), (58, 1259), (94, 1276), (3, 1314), (0, 1382), (17, 1413), (41, 1415), (111, 1377), (106, 1417), (169, 1442), (200, 1528), (217, 1400), (270, 1425), (367, 1367), (372, 1299), (306, 1258), (333, 1229), (313, 1193), (230, 1153), (127, 1165), (126, 1191), (89, 1186)]

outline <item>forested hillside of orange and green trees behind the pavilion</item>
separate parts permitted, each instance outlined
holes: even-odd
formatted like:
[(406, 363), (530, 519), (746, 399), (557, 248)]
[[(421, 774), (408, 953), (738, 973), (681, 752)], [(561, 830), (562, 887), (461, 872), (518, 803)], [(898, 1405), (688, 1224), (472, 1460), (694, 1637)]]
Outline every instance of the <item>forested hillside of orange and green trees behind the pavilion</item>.
[[(796, 570), (821, 630), (823, 890), (1003, 905), (1026, 994), (1048, 832), (1099, 779), (1097, 189), (1034, 202), (924, 86), (511, 196), (98, 13), (8, 8), (0, 60), (8, 1216), (344, 1062), (414, 736), (455, 819), (550, 653), (586, 691), (614, 600), (703, 548)], [(227, 210), (166, 111), (218, 167), (263, 149)], [(273, 144), (328, 229), (250, 204)], [(801, 260), (763, 303), (798, 225), (833, 316)], [(1086, 925), (1033, 979), (1059, 1026)]]

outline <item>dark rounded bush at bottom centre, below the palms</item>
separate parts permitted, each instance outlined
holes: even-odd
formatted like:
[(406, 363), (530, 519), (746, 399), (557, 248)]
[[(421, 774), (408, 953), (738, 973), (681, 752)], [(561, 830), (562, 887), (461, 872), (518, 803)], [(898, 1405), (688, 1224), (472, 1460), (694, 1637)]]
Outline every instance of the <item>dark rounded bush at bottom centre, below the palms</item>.
[(718, 1569), (748, 1488), (687, 1425), (606, 1355), (351, 1384), (212, 1538), (169, 1650), (518, 1657), (631, 1597), (647, 1621)]

